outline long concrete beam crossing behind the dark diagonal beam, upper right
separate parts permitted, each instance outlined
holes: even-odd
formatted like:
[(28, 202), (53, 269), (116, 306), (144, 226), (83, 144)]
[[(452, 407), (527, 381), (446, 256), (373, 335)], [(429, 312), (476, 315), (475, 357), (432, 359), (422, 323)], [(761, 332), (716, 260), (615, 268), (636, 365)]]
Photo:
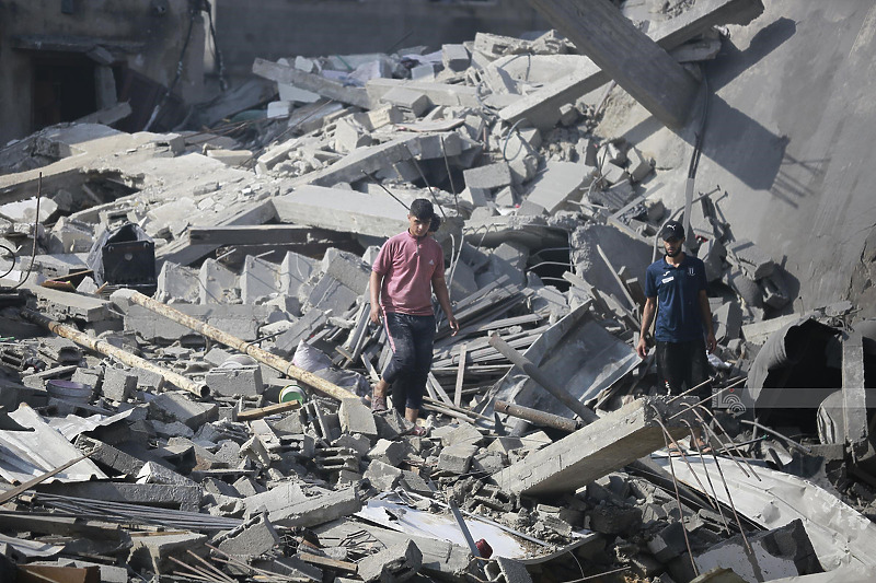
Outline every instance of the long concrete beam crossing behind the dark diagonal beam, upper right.
[[(669, 50), (714, 25), (748, 24), (761, 12), (763, 4), (760, 0), (700, 0), (693, 8), (655, 27), (647, 35), (661, 48)], [(561, 105), (574, 102), (608, 81), (608, 73), (587, 59), (573, 73), (503, 108), (499, 117), (509, 123), (526, 118), (539, 129), (551, 129), (560, 119)]]

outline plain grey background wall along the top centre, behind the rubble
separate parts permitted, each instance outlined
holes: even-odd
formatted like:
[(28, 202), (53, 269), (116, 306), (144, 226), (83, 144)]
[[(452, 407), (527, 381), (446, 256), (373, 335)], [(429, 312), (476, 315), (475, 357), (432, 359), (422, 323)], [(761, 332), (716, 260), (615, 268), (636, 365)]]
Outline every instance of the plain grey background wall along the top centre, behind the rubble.
[(550, 27), (526, 0), (264, 0), (257, 10), (247, 0), (215, 3), (218, 45), (232, 78), (247, 78), (256, 57), (388, 53), (462, 43), (477, 32), (517, 36)]

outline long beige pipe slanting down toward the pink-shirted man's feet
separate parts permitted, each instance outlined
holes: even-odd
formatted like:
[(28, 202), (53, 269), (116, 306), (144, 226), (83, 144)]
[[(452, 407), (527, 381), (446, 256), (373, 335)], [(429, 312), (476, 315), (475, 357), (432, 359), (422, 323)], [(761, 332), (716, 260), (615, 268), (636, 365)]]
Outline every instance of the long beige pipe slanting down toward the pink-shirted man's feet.
[(344, 400), (347, 398), (357, 398), (356, 395), (350, 393), (349, 390), (342, 388), (334, 383), (330, 383), (325, 378), (320, 378), (315, 374), (310, 371), (306, 371), (304, 369), (300, 369), (289, 362), (288, 360), (281, 359), (276, 354), (272, 354), (267, 350), (263, 350), (256, 346), (253, 346), (251, 342), (246, 342), (241, 340), (235, 336), (231, 336), (230, 334), (223, 333), (219, 328), (215, 326), (210, 326), (209, 324), (205, 324), (199, 319), (193, 318), (187, 314), (183, 314), (178, 310), (174, 310), (169, 305), (162, 304), (161, 302), (157, 302), (152, 300), (148, 295), (143, 295), (142, 293), (134, 290), (122, 289), (115, 292), (119, 294), (125, 300), (128, 300), (135, 304), (141, 305), (147, 310), (151, 310), (155, 314), (160, 314), (165, 318), (172, 319), (177, 324), (182, 324), (187, 328), (192, 328), (198, 334), (201, 334), (208, 338), (212, 338), (217, 342), (221, 342), (226, 346), (230, 346), (231, 348), (238, 350), (243, 354), (247, 354), (258, 362), (267, 364), (272, 369), (281, 372), (286, 376), (291, 376), (302, 383), (313, 387), (314, 389), (319, 390), (320, 393), (333, 397), (337, 400)]

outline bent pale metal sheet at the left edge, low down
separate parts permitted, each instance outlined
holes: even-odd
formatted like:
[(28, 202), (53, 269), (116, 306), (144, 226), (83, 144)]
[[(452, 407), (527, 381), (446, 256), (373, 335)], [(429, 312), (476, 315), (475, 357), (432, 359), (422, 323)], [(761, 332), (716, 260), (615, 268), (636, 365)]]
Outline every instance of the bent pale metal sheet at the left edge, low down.
[[(9, 413), (19, 424), (34, 431), (0, 431), (0, 477), (21, 483), (62, 466), (82, 455), (58, 430), (26, 404)], [(106, 479), (90, 459), (83, 459), (47, 479), (46, 482)]]

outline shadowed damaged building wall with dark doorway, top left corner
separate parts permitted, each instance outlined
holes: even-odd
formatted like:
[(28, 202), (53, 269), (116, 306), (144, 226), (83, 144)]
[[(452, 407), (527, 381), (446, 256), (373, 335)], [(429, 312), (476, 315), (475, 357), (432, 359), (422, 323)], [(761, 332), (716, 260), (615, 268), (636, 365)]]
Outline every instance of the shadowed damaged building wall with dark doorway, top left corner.
[(0, 143), (112, 106), (117, 97), (131, 102), (135, 117), (148, 119), (161, 96), (153, 83), (172, 83), (189, 34), (174, 93), (186, 102), (203, 98), (205, 19), (192, 5), (189, 0), (0, 3)]

